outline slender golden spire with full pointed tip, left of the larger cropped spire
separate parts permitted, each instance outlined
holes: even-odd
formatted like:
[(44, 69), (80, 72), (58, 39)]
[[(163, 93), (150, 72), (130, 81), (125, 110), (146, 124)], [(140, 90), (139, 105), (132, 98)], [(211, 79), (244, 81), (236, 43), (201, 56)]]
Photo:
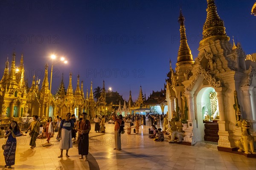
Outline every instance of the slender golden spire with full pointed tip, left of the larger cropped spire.
[[(191, 50), (189, 48), (189, 45), (187, 43), (186, 39), (186, 29), (184, 26), (184, 17), (181, 12), (180, 8), (180, 17), (178, 19), (178, 22), (180, 23), (180, 48), (178, 51), (178, 59), (176, 65), (180, 65), (182, 63), (185, 64), (193, 64), (193, 56), (191, 54)], [(171, 67), (171, 66), (170, 66)]]

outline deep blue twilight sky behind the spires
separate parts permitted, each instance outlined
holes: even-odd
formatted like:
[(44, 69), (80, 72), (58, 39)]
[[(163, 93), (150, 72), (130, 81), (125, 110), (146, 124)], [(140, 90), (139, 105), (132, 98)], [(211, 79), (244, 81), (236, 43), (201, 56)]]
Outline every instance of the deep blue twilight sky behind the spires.
[[(240, 42), (246, 54), (256, 52), (256, 17), (250, 14), (255, 0), (215, 0), (226, 33)], [(68, 87), (69, 72), (76, 89), (77, 75), (84, 81), (84, 93), (111, 87), (128, 100), (129, 90), (137, 99), (140, 85), (148, 97), (163, 88), (177, 62), (179, 48), (180, 4), (185, 17), (186, 35), (193, 58), (206, 20), (206, 0), (46, 0), (0, 1), (0, 71), (6, 58), (16, 63), (24, 54), (29, 87), (32, 75), (44, 78), (44, 65), (51, 65), (51, 54), (64, 56), (68, 64), (54, 63), (52, 92), (64, 73)], [(10, 67), (11, 65), (9, 65)], [(81, 85), (81, 84), (80, 84)]]

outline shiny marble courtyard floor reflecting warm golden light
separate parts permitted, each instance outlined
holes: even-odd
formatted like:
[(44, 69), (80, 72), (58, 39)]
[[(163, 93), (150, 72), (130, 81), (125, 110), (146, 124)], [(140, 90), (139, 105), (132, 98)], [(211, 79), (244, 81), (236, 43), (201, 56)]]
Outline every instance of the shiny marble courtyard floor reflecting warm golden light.
[[(158, 125), (157, 127), (161, 127)], [(70, 157), (58, 158), (59, 142), (55, 137), (50, 144), (37, 139), (34, 149), (29, 147), (29, 136), (17, 138), (15, 170), (256, 170), (256, 159), (217, 150), (214, 143), (198, 142), (195, 146), (170, 144), (148, 138), (147, 125), (140, 126), (140, 133), (122, 135), (122, 150), (114, 148), (114, 125), (106, 124), (106, 133), (89, 134), (89, 161), (79, 159), (77, 144), (69, 150)], [(134, 129), (134, 128), (133, 128)], [(133, 131), (132, 129), (132, 131)], [(5, 140), (1, 139), (1, 145)], [(65, 150), (64, 150), (65, 155)], [(0, 169), (4, 169), (3, 150), (0, 150)], [(7, 170), (7, 168), (6, 168)]]

